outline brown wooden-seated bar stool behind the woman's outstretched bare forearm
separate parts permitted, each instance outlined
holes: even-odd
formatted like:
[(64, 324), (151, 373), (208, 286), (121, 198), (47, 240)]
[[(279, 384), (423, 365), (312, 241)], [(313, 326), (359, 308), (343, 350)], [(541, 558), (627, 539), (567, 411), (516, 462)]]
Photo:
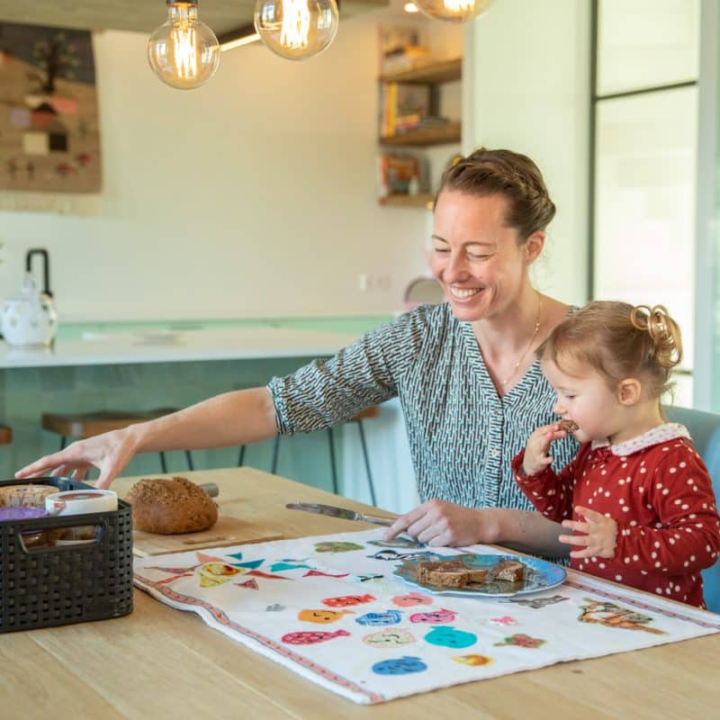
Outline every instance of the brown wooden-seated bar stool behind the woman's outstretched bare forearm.
[[(174, 408), (158, 408), (157, 410), (144, 410), (141, 412), (125, 412), (123, 410), (99, 410), (97, 412), (84, 412), (72, 415), (56, 414), (52, 412), (42, 413), (42, 427), (51, 433), (60, 436), (60, 450), (67, 445), (67, 438), (83, 440), (85, 437), (102, 435), (111, 430), (121, 430), (137, 422), (162, 418), (175, 412)], [(160, 451), (160, 467), (162, 472), (167, 472), (165, 452)], [(194, 470), (193, 455), (185, 450), (188, 470)]]

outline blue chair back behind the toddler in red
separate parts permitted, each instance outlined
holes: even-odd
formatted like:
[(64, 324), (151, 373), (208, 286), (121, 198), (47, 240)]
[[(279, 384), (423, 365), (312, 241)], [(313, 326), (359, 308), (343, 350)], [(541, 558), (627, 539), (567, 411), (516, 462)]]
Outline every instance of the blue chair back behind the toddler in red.
[[(716, 500), (720, 500), (720, 415), (689, 408), (665, 408), (671, 422), (688, 428), (698, 453), (713, 480)], [(703, 571), (707, 609), (720, 613), (720, 561)]]

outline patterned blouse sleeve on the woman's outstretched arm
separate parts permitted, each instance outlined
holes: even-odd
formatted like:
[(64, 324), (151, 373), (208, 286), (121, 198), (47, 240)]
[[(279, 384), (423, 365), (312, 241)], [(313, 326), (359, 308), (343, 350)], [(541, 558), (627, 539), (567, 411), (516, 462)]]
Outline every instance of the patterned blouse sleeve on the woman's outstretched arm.
[(281, 435), (344, 422), (369, 405), (397, 395), (399, 379), (419, 355), (428, 326), (425, 306), (371, 330), (336, 356), (274, 377), (267, 389)]

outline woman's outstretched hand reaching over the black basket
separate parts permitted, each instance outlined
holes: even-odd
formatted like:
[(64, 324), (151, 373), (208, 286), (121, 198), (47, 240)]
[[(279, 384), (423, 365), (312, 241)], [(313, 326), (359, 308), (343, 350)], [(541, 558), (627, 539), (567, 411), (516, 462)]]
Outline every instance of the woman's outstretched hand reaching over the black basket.
[(94, 466), (100, 470), (100, 477), (95, 482), (95, 487), (107, 488), (135, 455), (137, 443), (132, 428), (133, 426), (130, 426), (88, 437), (86, 440), (78, 440), (59, 453), (45, 455), (40, 460), (26, 465), (15, 473), (15, 477), (19, 479), (47, 475), (69, 477), (71, 473), (75, 473), (74, 477), (80, 480)]

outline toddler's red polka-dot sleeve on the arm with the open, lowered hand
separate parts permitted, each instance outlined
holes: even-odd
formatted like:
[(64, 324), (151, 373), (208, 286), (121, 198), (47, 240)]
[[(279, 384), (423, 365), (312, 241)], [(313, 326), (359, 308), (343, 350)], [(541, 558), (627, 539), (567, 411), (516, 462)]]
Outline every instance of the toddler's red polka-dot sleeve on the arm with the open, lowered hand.
[(645, 493), (657, 512), (658, 527), (617, 524), (615, 557), (631, 568), (698, 572), (716, 563), (720, 518), (707, 467), (695, 450), (668, 453)]

